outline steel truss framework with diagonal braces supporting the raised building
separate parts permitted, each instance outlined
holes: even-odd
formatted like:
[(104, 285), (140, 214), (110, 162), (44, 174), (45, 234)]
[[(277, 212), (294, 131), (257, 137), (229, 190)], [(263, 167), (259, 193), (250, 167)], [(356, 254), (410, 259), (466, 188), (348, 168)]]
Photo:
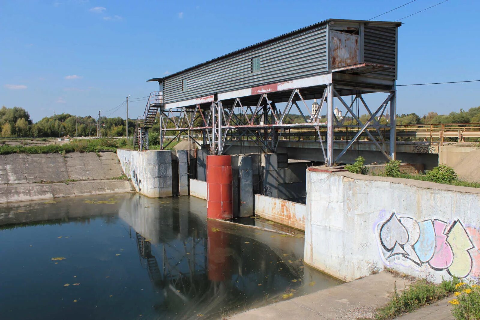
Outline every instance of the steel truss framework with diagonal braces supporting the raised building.
[[(194, 106), (161, 109), (159, 111), (160, 144), (165, 148), (172, 141), (180, 139), (180, 136), (187, 135), (193, 142), (209, 146), (211, 154), (222, 154), (231, 147), (229, 141), (246, 139), (254, 142), (264, 152), (275, 152), (279, 139), (286, 134), (287, 130), (310, 128), (314, 130), (315, 140), (318, 139), (317, 141), (321, 144), (325, 163), (328, 166), (339, 161), (353, 143), (359, 140), (360, 136), (366, 136), (372, 140), (386, 158), (395, 158), (395, 143), (390, 143), (387, 147), (385, 130), (388, 129), (390, 132), (389, 140), (395, 142), (396, 91), (363, 90), (345, 85), (339, 86), (339, 88), (341, 88), (342, 95), (337, 92), (334, 84), (315, 87), (315, 92), (321, 96), (321, 99), (319, 107), (314, 113), (305, 102), (304, 96), (309, 95), (305, 88), (293, 89), (288, 100), (285, 95), (288, 92), (282, 92), (283, 100), (277, 98), (277, 92)], [(350, 92), (352, 97), (349, 104), (344, 100), (344, 97), (348, 95), (346, 91)], [(372, 92), (384, 92), (388, 96), (378, 107), (371, 109), (365, 102), (363, 94)], [(273, 95), (275, 97), (272, 98)], [(309, 97), (311, 96), (312, 94), (309, 95)], [(257, 99), (256, 104), (252, 103), (253, 98)], [(275, 100), (287, 101), (283, 112), (276, 106)], [(336, 116), (334, 101), (339, 103), (337, 106), (344, 108), (343, 118)], [(324, 105), (326, 105), (326, 119), (321, 117)], [(360, 105), (364, 107), (369, 117), (364, 122), (360, 120)], [(381, 124), (381, 119), (385, 116), (388, 106), (390, 107), (390, 122)], [(354, 111), (355, 107), (357, 112)], [(302, 119), (300, 123), (286, 123), (286, 115), (292, 109), (299, 112)], [(345, 148), (334, 156), (334, 131), (339, 128), (356, 130), (356, 133)], [(390, 130), (392, 128), (393, 130)], [(166, 144), (164, 145), (164, 143)]]

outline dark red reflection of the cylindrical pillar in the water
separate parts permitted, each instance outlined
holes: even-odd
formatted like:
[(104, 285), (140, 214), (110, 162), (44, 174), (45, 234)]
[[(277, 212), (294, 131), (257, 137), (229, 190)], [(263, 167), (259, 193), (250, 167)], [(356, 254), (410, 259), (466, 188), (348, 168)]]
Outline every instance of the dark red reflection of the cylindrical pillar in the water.
[(228, 265), (228, 234), (220, 231), (220, 225), (215, 220), (207, 221), (208, 228), (208, 280), (223, 281), (229, 276)]

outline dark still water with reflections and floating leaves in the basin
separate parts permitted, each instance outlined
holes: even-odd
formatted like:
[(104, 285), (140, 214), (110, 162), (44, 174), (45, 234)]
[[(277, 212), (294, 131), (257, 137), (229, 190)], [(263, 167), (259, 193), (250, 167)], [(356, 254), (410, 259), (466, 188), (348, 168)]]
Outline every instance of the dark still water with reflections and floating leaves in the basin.
[(2, 205), (0, 258), (2, 320), (218, 319), (339, 284), (303, 265), (303, 238), (188, 197)]

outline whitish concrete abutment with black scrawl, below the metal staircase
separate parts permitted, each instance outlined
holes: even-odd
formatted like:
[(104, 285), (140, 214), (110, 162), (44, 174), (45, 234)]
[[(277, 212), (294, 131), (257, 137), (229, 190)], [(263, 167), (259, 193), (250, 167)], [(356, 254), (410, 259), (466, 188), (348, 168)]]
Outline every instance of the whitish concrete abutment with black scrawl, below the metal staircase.
[(169, 150), (117, 149), (123, 172), (135, 190), (145, 196), (172, 196), (172, 153)]

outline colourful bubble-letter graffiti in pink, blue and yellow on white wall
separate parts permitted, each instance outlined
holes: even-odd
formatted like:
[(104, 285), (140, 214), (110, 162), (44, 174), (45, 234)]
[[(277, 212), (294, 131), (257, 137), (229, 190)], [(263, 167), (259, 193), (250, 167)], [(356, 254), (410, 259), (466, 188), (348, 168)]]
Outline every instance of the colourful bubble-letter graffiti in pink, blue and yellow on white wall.
[[(379, 247), (388, 264), (400, 257), (415, 266), (451, 276), (480, 276), (480, 232), (457, 219), (416, 221), (392, 213), (377, 224)], [(395, 258), (394, 258), (395, 257)]]

